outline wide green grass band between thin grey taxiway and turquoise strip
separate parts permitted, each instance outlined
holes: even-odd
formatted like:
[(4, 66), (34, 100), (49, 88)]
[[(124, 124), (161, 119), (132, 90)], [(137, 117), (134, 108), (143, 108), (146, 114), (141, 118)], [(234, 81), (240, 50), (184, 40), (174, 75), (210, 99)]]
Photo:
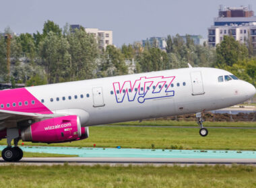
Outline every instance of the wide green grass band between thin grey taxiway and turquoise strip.
[[(158, 128), (158, 127), (124, 127), (94, 126), (90, 127), (90, 137), (86, 140), (63, 144), (39, 144), (24, 142), (34, 146), (77, 146), (115, 148), (172, 148), (199, 150), (256, 150), (256, 130), (246, 129), (209, 129), (206, 137), (199, 136), (195, 128)], [(6, 144), (1, 140), (0, 144)]]

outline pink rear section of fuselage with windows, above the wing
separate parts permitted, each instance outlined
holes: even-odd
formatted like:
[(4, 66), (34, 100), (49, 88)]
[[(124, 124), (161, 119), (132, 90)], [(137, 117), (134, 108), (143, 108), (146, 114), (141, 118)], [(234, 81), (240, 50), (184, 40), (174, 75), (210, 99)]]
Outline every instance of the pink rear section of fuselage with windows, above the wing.
[(0, 109), (27, 113), (53, 113), (26, 88), (0, 91)]

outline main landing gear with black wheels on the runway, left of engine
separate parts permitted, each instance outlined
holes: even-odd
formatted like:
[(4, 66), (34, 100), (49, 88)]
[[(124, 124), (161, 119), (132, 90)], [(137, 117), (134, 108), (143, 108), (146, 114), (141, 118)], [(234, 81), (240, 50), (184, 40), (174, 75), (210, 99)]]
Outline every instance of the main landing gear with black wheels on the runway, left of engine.
[[(11, 140), (14, 142), (14, 147), (11, 147)], [(2, 151), (3, 160), (7, 162), (17, 162), (22, 159), (23, 151), (18, 147), (20, 140), (19, 131), (16, 128), (7, 129), (7, 147)]]

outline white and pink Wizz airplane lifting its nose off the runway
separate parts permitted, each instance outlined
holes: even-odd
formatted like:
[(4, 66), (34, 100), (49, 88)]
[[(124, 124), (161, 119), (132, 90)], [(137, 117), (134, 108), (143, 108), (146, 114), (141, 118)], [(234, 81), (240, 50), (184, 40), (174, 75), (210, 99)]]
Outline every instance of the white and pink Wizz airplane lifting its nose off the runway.
[[(247, 101), (256, 90), (218, 68), (179, 68), (0, 91), (2, 157), (22, 159), (19, 140), (43, 143), (86, 139), (89, 126), (196, 113)], [(13, 140), (14, 146), (11, 146)]]

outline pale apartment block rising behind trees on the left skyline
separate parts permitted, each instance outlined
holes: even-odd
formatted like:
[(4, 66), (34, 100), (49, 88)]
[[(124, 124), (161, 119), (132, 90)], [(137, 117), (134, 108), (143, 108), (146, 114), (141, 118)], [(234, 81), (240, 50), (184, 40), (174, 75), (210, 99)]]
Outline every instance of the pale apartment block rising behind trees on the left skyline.
[[(72, 30), (79, 29), (81, 25), (71, 25)], [(113, 45), (113, 31), (99, 30), (98, 28), (85, 28), (86, 33), (93, 34), (98, 42), (98, 48), (106, 49), (106, 46)]]

